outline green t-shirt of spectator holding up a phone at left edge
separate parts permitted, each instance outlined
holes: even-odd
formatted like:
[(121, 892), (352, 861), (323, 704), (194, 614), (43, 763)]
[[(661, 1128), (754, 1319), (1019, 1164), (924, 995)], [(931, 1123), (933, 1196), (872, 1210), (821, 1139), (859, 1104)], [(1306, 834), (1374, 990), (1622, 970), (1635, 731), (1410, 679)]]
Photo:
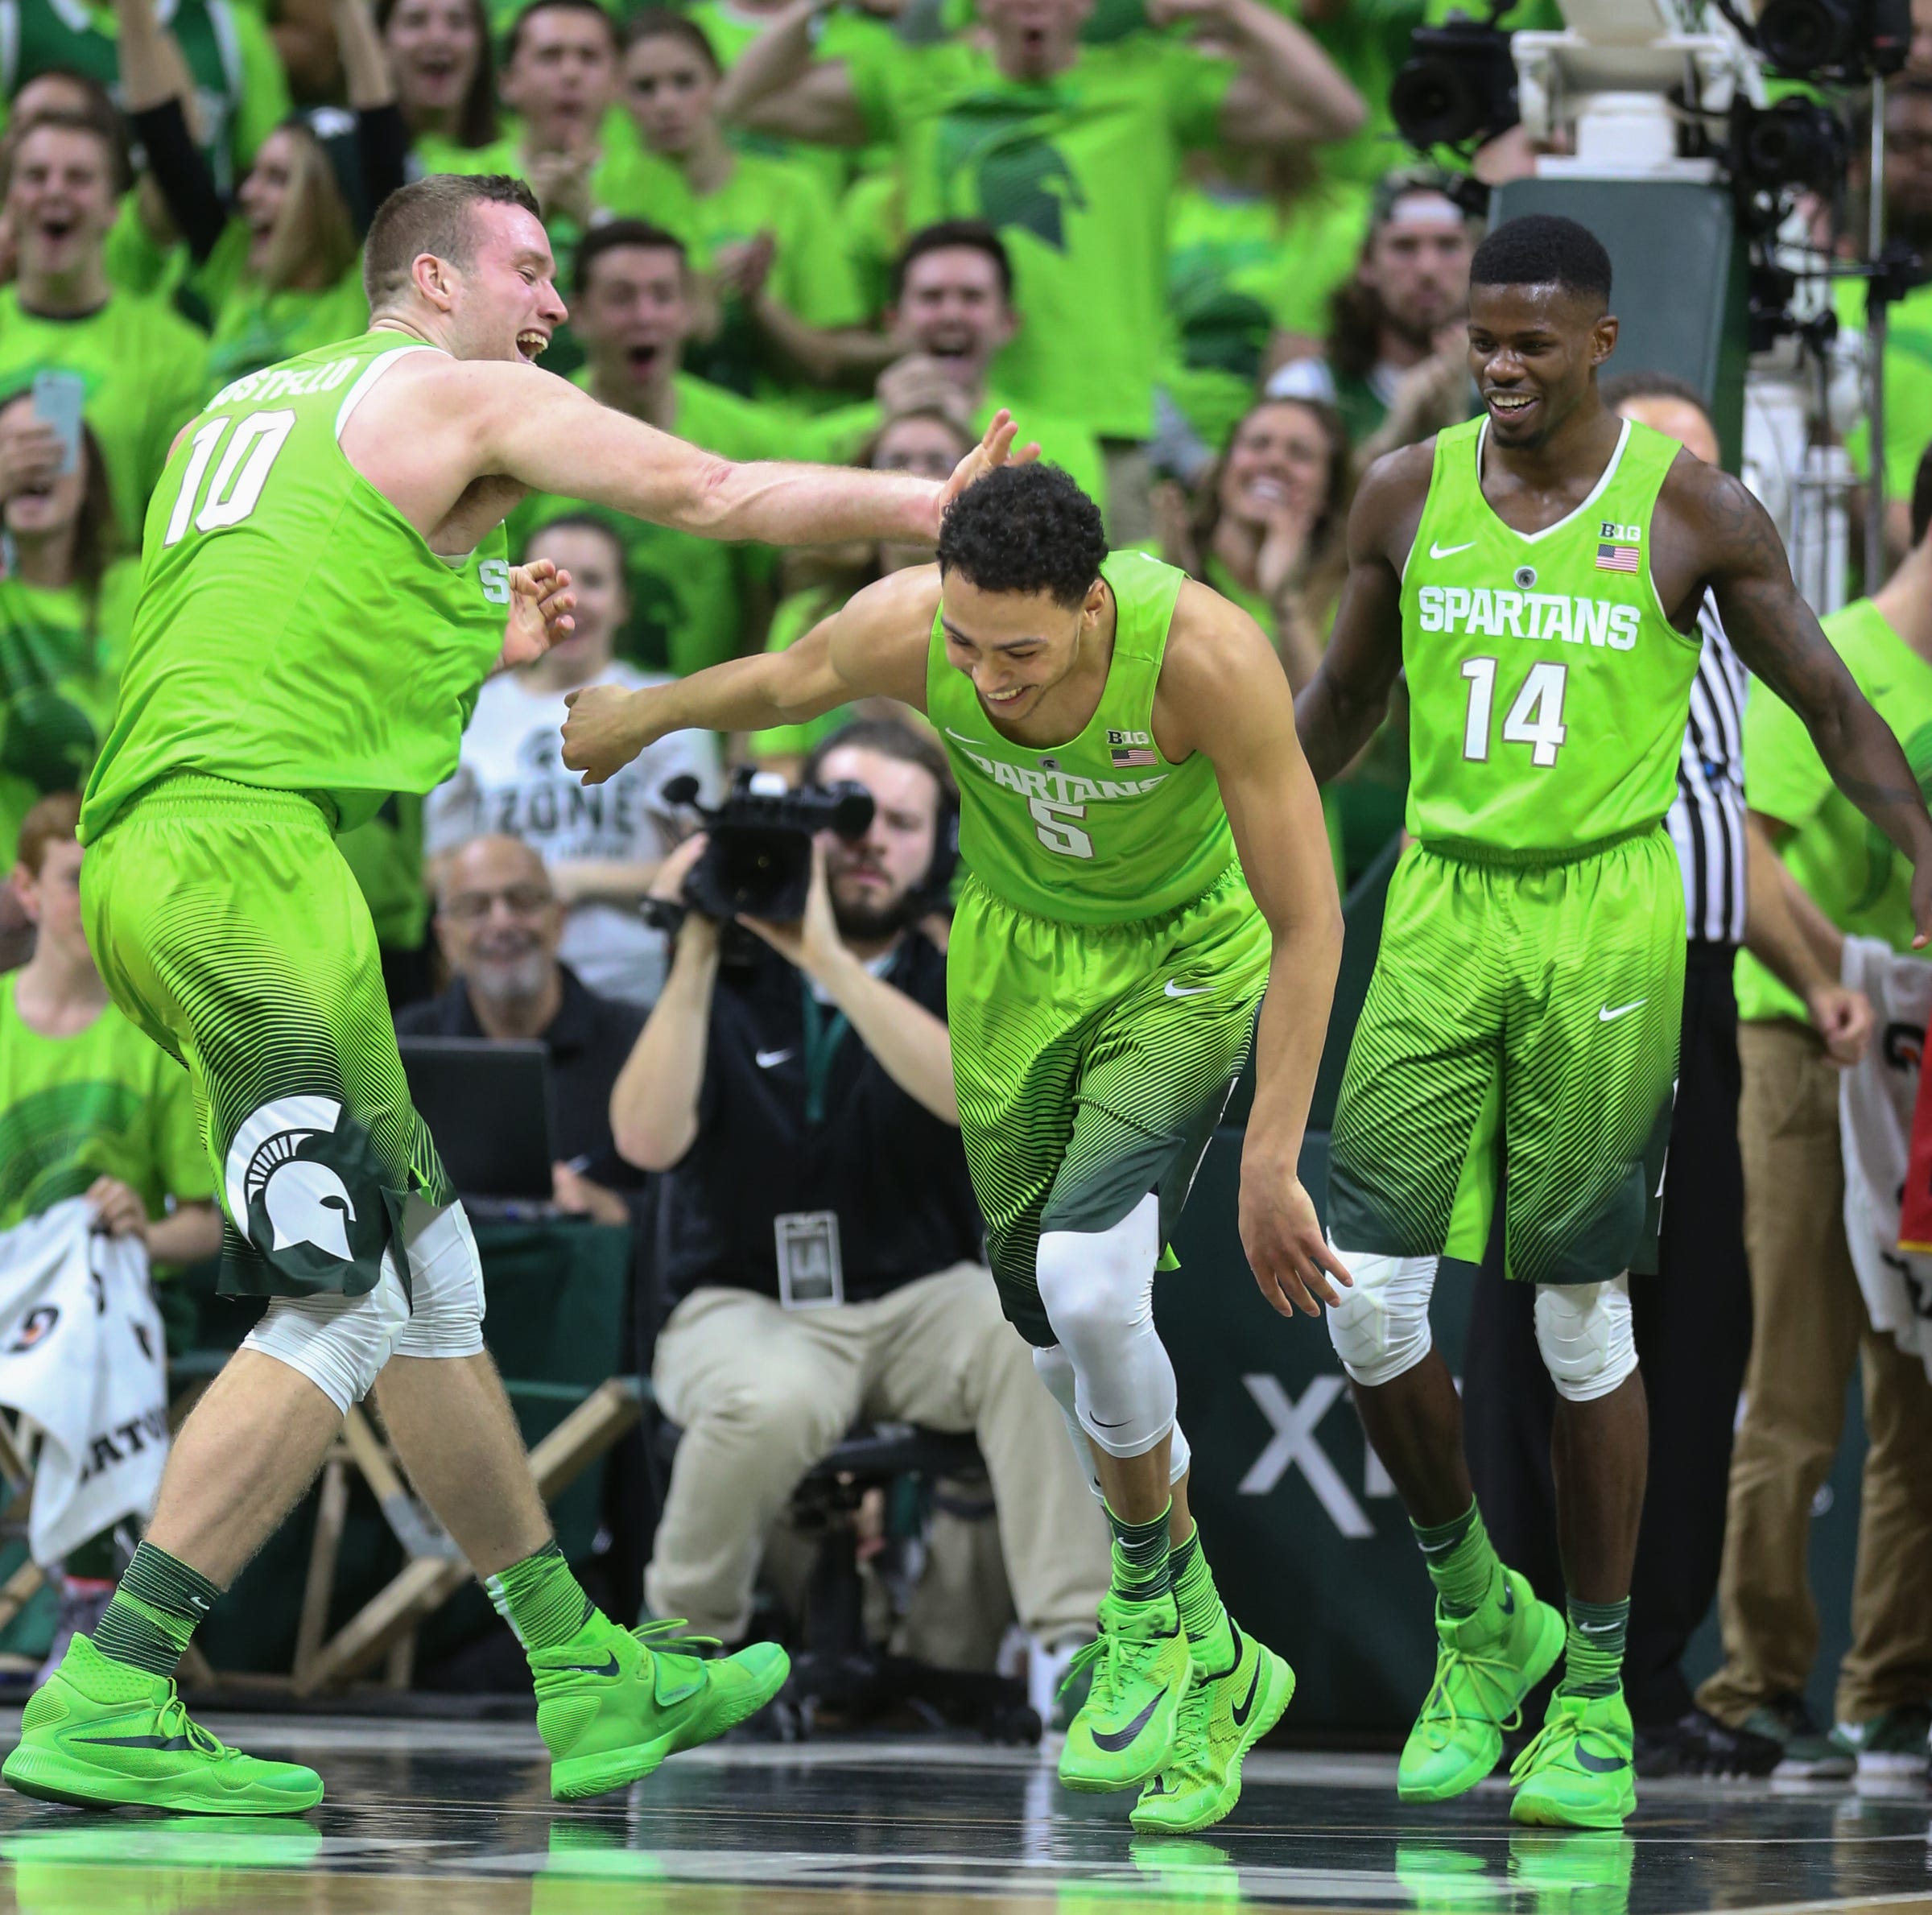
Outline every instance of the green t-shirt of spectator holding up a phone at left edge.
[(114, 719), (141, 566), (122, 558), (100, 589), (0, 578), (0, 870), (19, 821), (56, 790), (79, 790)]

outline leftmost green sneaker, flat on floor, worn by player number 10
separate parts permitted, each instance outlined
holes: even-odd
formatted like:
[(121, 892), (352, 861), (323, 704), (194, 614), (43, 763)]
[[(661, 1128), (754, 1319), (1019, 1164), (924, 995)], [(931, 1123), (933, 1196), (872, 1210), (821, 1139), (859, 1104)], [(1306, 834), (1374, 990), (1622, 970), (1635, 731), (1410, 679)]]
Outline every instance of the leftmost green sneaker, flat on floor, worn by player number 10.
[(29, 1697), (0, 1776), (75, 1809), (301, 1815), (323, 1799), (313, 1768), (216, 1741), (187, 1720), (168, 1677), (110, 1662), (85, 1635)]

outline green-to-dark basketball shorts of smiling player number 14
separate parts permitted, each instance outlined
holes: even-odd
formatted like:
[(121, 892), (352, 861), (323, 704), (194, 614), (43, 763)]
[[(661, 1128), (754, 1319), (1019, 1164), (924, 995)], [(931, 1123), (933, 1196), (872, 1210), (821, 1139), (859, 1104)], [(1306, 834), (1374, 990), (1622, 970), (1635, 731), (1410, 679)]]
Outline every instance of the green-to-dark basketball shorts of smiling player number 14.
[(1542, 866), (1412, 844), (1335, 1109), (1335, 1246), (1480, 1262), (1507, 1158), (1509, 1275), (1656, 1270), (1683, 976), (1662, 829)]

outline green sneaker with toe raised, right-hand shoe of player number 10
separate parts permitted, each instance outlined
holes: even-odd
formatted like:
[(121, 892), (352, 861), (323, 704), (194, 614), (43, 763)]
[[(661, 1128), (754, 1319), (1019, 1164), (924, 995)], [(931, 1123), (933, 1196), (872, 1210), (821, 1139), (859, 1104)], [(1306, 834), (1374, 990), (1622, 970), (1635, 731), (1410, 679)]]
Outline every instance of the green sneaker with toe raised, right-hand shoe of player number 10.
[(686, 1654), (715, 1639), (670, 1637), (682, 1627), (672, 1617), (618, 1629), (595, 1614), (568, 1643), (531, 1652), (537, 1733), (551, 1751), (558, 1801), (630, 1787), (667, 1755), (715, 1741), (755, 1716), (792, 1672), (777, 1643), (715, 1662)]

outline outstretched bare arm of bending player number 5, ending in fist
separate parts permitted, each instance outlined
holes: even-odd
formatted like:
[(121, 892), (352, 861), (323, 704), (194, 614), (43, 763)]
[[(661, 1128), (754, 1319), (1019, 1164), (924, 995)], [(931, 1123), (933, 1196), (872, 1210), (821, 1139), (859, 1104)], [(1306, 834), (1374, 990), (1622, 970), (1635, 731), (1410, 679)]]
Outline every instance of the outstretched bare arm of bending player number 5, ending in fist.
[(726, 659), (639, 692), (609, 684), (572, 692), (564, 700), (564, 763), (582, 771), (585, 785), (603, 785), (674, 730), (773, 730), (854, 698), (896, 698), (923, 711), (937, 611), (939, 568), (916, 566), (867, 586), (784, 651)]

